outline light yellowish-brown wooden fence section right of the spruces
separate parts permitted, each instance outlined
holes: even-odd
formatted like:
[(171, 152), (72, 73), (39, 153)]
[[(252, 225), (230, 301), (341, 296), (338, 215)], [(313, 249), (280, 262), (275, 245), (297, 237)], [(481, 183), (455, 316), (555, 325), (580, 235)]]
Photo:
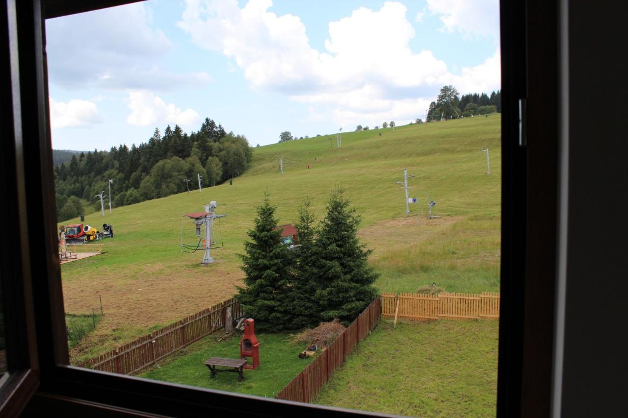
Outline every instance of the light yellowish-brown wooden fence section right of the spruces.
[(382, 293), (382, 316), (394, 318), (399, 305), (399, 318), (412, 321), (447, 319), (498, 319), (499, 292), (449, 293), (438, 295), (418, 293)]

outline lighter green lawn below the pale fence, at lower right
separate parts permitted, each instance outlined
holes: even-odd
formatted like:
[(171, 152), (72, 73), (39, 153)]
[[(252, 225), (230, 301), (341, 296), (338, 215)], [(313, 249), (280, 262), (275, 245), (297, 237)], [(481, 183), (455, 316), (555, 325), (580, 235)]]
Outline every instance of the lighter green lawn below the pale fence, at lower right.
[(382, 320), (317, 404), (388, 414), (494, 417), (497, 321)]

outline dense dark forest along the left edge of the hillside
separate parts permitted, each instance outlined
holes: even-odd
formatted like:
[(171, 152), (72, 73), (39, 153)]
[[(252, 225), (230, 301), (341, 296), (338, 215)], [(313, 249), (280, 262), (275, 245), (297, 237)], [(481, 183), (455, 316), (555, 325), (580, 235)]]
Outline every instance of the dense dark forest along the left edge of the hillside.
[[(109, 180), (113, 205), (133, 205), (186, 191), (186, 179), (196, 188), (199, 174), (203, 186), (215, 186), (244, 172), (251, 158), (246, 137), (225, 132), (209, 118), (189, 135), (178, 125), (166, 127), (163, 136), (155, 128), (139, 146), (94, 149), (55, 166), (57, 217), (63, 221), (84, 213), (79, 198), (95, 201), (100, 191), (109, 193)], [(100, 210), (100, 201), (94, 208)]]

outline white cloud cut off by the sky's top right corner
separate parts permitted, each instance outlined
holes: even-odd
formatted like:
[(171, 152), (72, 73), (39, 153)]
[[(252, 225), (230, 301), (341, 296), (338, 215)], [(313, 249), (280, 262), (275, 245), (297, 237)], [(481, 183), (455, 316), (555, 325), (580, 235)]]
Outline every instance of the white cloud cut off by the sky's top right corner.
[(427, 7), (441, 15), (444, 31), (499, 40), (499, 0), (428, 0)]

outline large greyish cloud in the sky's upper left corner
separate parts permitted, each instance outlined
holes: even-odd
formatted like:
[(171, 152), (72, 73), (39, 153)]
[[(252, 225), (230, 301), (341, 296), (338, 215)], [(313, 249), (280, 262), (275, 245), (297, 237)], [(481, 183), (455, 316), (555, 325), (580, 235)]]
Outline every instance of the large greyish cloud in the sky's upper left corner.
[(65, 88), (171, 90), (210, 81), (205, 72), (163, 68), (172, 49), (142, 3), (46, 20), (50, 82)]

